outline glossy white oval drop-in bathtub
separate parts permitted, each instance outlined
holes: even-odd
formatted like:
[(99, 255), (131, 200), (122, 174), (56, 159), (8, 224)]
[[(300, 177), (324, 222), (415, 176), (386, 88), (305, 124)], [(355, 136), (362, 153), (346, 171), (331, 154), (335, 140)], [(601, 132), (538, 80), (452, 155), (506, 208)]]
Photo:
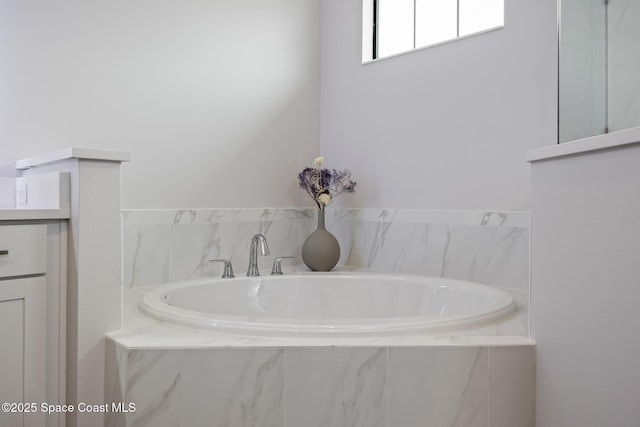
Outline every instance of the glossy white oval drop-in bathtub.
[(346, 338), (484, 326), (515, 304), (501, 289), (460, 280), (309, 273), (174, 283), (148, 292), (140, 308), (164, 322), (224, 333)]

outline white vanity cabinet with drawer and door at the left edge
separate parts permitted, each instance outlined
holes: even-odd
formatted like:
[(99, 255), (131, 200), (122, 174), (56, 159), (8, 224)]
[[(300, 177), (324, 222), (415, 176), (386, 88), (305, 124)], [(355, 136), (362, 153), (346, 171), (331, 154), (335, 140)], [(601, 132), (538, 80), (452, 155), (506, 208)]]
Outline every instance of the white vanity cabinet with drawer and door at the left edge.
[(61, 245), (63, 222), (0, 221), (0, 426), (61, 425), (41, 411), (64, 391)]

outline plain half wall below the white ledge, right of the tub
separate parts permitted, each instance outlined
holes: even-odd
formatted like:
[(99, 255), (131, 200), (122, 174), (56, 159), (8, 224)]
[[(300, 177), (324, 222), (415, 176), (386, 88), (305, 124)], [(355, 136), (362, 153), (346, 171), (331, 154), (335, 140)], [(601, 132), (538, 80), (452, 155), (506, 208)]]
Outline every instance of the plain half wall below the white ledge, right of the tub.
[(535, 162), (538, 427), (640, 425), (640, 144)]

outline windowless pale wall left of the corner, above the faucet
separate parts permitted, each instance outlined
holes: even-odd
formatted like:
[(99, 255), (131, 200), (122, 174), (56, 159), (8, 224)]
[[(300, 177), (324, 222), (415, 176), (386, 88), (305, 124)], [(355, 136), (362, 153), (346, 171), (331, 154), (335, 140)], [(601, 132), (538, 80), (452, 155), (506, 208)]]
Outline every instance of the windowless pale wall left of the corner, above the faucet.
[(124, 208), (301, 205), (319, 15), (319, 0), (0, 2), (0, 163), (117, 149)]

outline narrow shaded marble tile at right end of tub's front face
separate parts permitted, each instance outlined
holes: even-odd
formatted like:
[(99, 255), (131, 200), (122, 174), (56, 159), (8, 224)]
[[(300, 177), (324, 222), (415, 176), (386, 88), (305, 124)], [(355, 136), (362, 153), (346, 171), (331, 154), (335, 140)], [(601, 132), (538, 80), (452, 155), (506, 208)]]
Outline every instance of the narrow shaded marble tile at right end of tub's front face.
[(489, 349), (491, 427), (534, 427), (535, 347)]

